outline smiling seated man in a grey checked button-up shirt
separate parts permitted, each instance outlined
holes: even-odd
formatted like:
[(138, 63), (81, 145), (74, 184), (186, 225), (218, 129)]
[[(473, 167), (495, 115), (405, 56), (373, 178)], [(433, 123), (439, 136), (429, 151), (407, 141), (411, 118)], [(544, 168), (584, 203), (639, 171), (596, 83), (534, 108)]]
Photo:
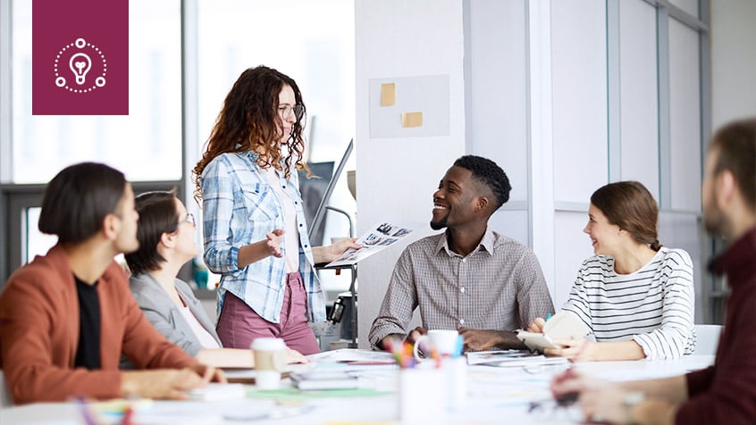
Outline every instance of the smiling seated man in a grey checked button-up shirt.
[[(370, 344), (425, 329), (459, 329), (468, 350), (525, 348), (511, 332), (554, 311), (535, 255), (488, 227), (491, 214), (508, 201), (507, 174), (491, 160), (466, 155), (441, 179), (433, 194), (431, 228), (399, 257), (370, 329)], [(423, 326), (407, 335), (420, 308)]]

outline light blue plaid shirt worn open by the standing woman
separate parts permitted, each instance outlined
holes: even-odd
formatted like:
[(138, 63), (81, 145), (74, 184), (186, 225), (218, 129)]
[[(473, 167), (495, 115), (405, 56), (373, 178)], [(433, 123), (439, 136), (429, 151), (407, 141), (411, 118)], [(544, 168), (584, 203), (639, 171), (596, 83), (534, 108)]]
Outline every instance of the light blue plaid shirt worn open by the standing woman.
[[(281, 199), (257, 166), (256, 158), (252, 151), (221, 154), (202, 171), (204, 259), (211, 271), (223, 275), (218, 312), (223, 308), (225, 291), (229, 291), (266, 321), (278, 323), (286, 287), (286, 253), (282, 258), (271, 255), (241, 269), (238, 263), (241, 246), (263, 240), (265, 233), (285, 226)], [(325, 299), (315, 276), (296, 170), (291, 171), (289, 180), (281, 177), (281, 187), (297, 209), (299, 271), (307, 290), (308, 319), (325, 321)], [(281, 250), (285, 251), (284, 241)]]

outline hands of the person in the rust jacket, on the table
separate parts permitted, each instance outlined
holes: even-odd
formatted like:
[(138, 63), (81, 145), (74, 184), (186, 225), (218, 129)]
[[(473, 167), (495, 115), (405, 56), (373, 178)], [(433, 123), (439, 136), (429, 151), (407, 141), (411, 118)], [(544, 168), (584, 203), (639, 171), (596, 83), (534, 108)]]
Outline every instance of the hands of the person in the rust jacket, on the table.
[(223, 371), (204, 364), (185, 369), (123, 371), (121, 392), (123, 396), (182, 400), (187, 398), (186, 391), (205, 387), (211, 380), (226, 382)]

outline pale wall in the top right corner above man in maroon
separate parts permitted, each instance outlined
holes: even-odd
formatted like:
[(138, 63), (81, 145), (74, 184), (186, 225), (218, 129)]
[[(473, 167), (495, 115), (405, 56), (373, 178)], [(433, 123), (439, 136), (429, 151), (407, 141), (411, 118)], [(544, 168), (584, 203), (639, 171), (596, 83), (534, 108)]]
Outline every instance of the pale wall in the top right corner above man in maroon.
[(756, 2), (711, 1), (711, 122), (756, 116)]

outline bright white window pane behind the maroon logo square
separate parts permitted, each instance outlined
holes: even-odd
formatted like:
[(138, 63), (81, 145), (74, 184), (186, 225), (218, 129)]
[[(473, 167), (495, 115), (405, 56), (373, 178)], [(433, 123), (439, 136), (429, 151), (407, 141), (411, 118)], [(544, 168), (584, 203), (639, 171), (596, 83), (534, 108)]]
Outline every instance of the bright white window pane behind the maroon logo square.
[(31, 4), (12, 4), (13, 183), (44, 183), (75, 162), (130, 180), (181, 179), (181, 2), (129, 2), (129, 115), (31, 114)]

